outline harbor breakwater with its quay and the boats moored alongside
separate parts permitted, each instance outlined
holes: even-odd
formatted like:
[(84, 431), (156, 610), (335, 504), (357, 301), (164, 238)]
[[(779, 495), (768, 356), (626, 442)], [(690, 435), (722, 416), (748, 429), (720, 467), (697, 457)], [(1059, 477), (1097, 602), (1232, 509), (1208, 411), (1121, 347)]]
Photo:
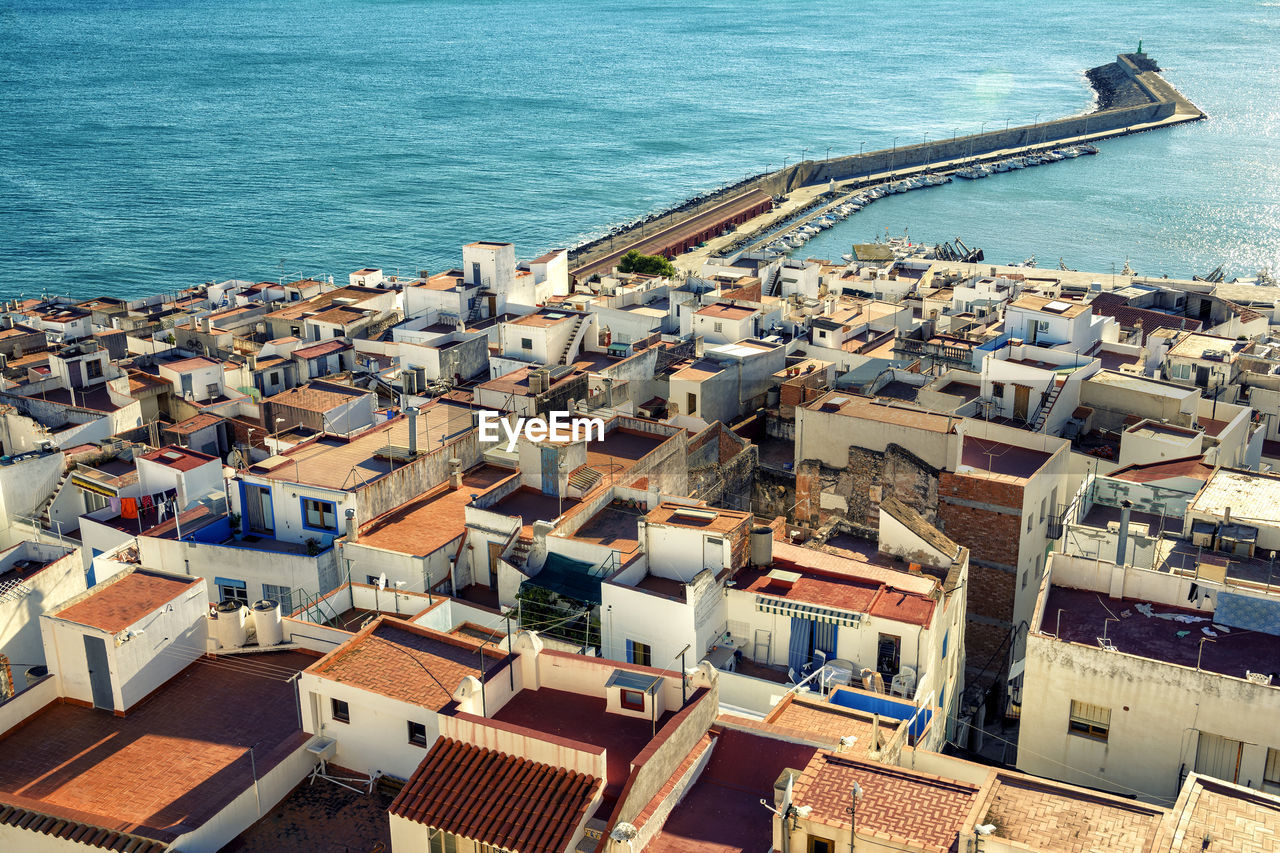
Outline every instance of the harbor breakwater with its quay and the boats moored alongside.
[[(712, 256), (768, 248), (778, 240), (794, 250), (797, 246), (786, 241), (791, 231), (817, 227), (814, 223), (842, 206), (845, 215), (856, 213), (865, 206), (859, 196), (873, 201), (956, 177), (978, 179), (1073, 159), (1097, 151), (1096, 143), (1103, 140), (1204, 118), (1199, 108), (1160, 76), (1158, 65), (1140, 47), (1089, 69), (1087, 76), (1100, 106), (1094, 111), (909, 146), (895, 142), (890, 149), (852, 156), (803, 160), (579, 246), (570, 252), (571, 269), (579, 280), (585, 280), (608, 272), (617, 257), (631, 250), (663, 254), (682, 269), (696, 269)], [(873, 192), (881, 195), (873, 197)], [(742, 222), (744, 205), (758, 200), (758, 193), (773, 199), (772, 209)], [(718, 218), (717, 211), (728, 215)], [(707, 234), (707, 240), (690, 246), (694, 237)]]

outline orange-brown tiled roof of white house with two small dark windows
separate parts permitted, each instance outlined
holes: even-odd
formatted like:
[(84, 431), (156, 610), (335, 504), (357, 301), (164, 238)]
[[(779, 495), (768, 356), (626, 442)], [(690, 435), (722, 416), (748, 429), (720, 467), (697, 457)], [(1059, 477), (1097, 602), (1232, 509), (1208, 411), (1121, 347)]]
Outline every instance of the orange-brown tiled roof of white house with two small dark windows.
[[(490, 672), (506, 657), (493, 648), (484, 654)], [(475, 646), (447, 634), (380, 616), (307, 671), (439, 711), (453, 702), (462, 679), (480, 678), (480, 654)]]

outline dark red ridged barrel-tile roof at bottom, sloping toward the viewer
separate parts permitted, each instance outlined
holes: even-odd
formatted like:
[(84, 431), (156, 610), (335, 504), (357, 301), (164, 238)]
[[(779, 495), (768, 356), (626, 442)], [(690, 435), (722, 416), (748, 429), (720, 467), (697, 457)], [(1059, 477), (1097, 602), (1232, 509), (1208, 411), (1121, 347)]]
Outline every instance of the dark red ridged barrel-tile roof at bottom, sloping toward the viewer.
[(563, 853), (598, 795), (585, 774), (440, 738), (390, 813), (520, 853)]

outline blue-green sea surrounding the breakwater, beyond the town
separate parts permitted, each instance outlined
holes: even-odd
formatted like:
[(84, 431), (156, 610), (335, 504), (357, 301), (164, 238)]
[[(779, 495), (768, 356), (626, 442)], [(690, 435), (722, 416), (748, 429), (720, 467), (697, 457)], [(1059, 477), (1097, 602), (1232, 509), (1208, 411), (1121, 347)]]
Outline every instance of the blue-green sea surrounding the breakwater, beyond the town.
[(803, 254), (1280, 269), (1280, 3), (0, 0), (0, 297), (534, 257), (801, 158), (1088, 110), (1084, 70), (1139, 41), (1208, 120)]

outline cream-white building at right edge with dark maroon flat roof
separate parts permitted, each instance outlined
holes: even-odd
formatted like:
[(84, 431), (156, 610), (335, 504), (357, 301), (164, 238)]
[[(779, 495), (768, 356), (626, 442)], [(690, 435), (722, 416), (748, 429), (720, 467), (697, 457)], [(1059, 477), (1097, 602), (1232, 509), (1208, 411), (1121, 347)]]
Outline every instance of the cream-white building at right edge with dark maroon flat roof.
[(1027, 640), (1018, 767), (1170, 804), (1188, 772), (1280, 790), (1280, 597), (1053, 555)]

